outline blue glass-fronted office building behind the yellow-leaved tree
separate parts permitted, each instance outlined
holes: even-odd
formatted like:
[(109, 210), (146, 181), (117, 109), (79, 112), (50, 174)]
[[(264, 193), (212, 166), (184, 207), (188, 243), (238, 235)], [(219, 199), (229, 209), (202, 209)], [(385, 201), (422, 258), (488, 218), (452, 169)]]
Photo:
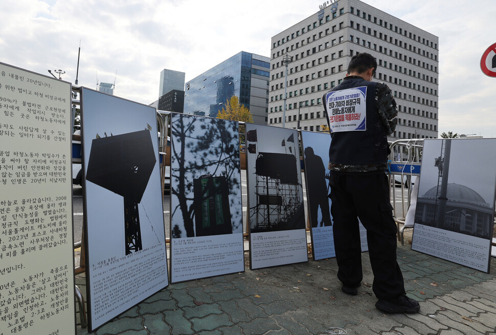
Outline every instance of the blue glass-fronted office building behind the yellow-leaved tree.
[(186, 83), (184, 112), (216, 117), (232, 96), (250, 109), (253, 122), (267, 123), (268, 57), (240, 53)]

